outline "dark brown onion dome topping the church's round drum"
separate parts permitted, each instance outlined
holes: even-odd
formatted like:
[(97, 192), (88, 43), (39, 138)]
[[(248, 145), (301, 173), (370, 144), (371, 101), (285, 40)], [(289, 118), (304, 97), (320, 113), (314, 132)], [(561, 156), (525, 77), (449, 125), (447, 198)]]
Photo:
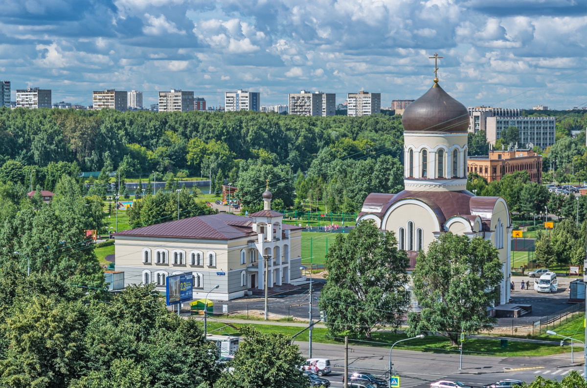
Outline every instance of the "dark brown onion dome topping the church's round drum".
[(434, 79), (434, 85), (423, 96), (407, 105), (402, 124), (406, 132), (467, 132), (469, 113)]

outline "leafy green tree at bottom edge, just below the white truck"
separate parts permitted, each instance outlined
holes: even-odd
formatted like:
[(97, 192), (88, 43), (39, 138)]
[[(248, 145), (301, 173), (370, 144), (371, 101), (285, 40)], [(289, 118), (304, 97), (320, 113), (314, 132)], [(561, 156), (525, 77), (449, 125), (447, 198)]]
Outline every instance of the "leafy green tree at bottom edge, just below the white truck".
[(230, 367), (234, 372), (222, 373), (214, 388), (306, 388), (308, 377), (299, 366), (305, 361), (298, 345), (282, 333), (264, 334), (245, 326), (245, 338)]

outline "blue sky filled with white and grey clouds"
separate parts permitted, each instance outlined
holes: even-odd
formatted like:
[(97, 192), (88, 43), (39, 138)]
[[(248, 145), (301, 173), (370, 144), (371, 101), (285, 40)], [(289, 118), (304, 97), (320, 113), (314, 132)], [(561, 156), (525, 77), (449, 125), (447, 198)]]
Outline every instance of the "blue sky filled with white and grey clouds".
[(1, 0), (0, 80), (89, 105), (92, 91), (321, 90), (465, 106), (587, 105), (587, 0)]

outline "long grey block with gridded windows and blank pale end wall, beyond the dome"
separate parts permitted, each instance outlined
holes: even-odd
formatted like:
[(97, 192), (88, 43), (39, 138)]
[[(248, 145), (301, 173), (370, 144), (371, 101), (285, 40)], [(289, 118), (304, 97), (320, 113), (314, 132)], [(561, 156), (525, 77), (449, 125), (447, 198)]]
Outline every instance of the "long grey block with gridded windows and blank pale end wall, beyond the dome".
[(485, 120), (487, 141), (495, 144), (508, 127), (517, 127), (519, 147), (545, 149), (554, 144), (556, 119), (554, 117), (488, 117)]

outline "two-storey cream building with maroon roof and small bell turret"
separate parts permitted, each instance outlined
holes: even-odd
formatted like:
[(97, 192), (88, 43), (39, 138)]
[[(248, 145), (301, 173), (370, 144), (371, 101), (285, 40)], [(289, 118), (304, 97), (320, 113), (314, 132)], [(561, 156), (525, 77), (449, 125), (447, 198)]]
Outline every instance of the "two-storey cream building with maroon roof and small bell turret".
[(116, 270), (124, 271), (125, 287), (155, 283), (164, 290), (169, 275), (191, 273), (194, 299), (218, 284), (210, 298), (230, 300), (264, 290), (265, 271), (268, 288), (304, 280), (303, 228), (284, 224), (284, 215), (271, 210), (271, 197), (266, 190), (264, 210), (248, 217), (221, 213), (114, 234)]

